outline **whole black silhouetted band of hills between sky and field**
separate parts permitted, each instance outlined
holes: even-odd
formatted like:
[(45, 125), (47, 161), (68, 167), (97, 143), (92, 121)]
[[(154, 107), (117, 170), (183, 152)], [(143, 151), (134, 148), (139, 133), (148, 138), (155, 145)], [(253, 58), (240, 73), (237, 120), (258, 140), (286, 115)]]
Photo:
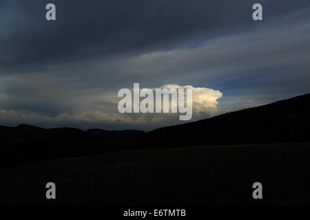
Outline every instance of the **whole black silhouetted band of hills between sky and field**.
[(0, 168), (136, 148), (310, 141), (310, 94), (154, 131), (0, 126)]

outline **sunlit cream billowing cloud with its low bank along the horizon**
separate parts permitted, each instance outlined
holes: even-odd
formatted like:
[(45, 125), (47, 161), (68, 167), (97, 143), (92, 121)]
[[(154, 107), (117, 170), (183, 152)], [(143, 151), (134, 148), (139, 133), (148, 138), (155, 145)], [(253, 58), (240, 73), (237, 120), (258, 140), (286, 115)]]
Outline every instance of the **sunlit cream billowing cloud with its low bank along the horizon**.
[[(192, 89), (193, 91), (193, 118), (198, 120), (207, 118), (217, 113), (218, 98), (222, 97), (222, 93), (218, 90), (209, 89), (205, 87), (193, 87), (192, 85), (163, 85), (165, 89)], [(107, 98), (107, 96), (103, 96)], [(104, 100), (103, 100), (104, 101)], [(110, 104), (116, 104), (110, 102)], [(109, 109), (109, 108), (107, 108)], [(110, 108), (114, 109), (114, 108)], [(34, 113), (34, 112), (21, 112), (11, 110), (0, 110), (0, 123), (1, 124), (71, 124), (76, 123), (90, 123), (90, 124), (105, 124), (105, 123), (120, 123), (120, 124), (153, 124), (156, 126), (169, 125), (167, 122), (178, 123), (178, 113), (118, 113), (118, 111), (111, 111), (105, 109), (89, 109), (87, 111), (80, 111), (75, 113), (63, 112), (56, 116)]]

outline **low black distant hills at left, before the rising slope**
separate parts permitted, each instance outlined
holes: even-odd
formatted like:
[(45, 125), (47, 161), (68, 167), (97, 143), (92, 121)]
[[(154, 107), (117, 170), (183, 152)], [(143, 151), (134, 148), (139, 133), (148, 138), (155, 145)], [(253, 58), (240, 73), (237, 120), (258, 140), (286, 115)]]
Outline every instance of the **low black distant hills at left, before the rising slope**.
[(19, 166), (54, 157), (75, 157), (133, 148), (144, 131), (83, 131), (73, 128), (43, 129), (20, 124), (0, 126), (0, 168)]

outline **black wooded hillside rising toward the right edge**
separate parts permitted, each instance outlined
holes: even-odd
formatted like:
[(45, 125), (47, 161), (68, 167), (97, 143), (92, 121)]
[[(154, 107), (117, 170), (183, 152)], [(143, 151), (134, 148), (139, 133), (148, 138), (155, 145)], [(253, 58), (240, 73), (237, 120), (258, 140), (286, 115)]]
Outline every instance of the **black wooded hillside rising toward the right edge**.
[[(161, 138), (158, 138), (161, 137)], [(143, 146), (310, 142), (310, 94), (146, 133)]]

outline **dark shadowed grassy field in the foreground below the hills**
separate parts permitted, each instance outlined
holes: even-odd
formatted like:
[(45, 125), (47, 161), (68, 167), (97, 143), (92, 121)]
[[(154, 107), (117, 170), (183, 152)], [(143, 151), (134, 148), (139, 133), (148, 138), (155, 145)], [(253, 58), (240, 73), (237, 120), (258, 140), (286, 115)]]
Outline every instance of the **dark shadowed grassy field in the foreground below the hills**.
[[(0, 170), (1, 205), (309, 205), (310, 144), (199, 146)], [(45, 184), (56, 184), (56, 200)], [(251, 196), (262, 183), (261, 200)]]

